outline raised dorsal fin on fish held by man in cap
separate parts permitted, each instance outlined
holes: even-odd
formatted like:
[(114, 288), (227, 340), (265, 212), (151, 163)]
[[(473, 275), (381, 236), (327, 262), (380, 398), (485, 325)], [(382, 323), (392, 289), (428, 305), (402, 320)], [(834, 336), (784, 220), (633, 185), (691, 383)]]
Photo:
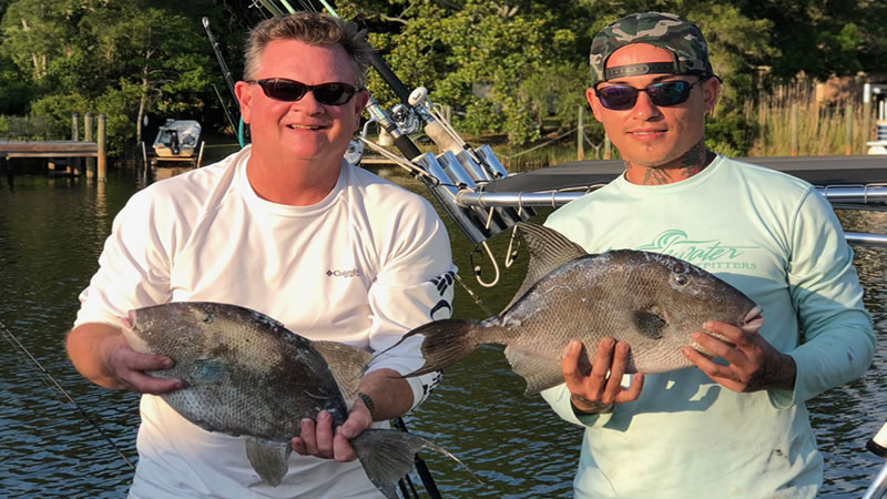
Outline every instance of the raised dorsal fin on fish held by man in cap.
[(530, 264), (527, 266), (527, 277), (523, 278), (523, 284), (514, 293), (514, 297), (511, 298), (511, 303), (504, 308), (506, 310), (527, 294), (530, 287), (544, 277), (546, 274), (563, 263), (588, 255), (588, 252), (582, 246), (568, 240), (553, 228), (530, 222), (519, 222), (518, 228), (523, 234), (523, 242), (530, 253)]

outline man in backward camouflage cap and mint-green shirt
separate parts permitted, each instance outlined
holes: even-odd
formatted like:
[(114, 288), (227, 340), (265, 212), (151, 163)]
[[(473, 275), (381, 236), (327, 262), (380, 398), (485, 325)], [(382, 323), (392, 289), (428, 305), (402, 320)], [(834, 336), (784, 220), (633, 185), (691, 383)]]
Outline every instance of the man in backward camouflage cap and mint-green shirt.
[(815, 496), (823, 458), (805, 403), (861, 376), (875, 352), (832, 206), (799, 179), (708, 151), (721, 81), (691, 22), (622, 18), (594, 37), (590, 65), (587, 98), (625, 172), (546, 225), (589, 253), (683, 258), (745, 293), (766, 322), (700, 324), (693, 340), (713, 358), (685, 347), (695, 367), (665, 374), (625, 375), (630, 345), (613, 338), (582, 370), (571, 344), (565, 383), (542, 396), (585, 429), (575, 496)]

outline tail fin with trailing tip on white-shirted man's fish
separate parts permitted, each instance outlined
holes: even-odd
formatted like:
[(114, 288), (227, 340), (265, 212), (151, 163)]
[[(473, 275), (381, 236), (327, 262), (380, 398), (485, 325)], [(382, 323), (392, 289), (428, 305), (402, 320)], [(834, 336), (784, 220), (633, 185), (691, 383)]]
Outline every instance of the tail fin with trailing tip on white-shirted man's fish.
[(351, 439), (351, 446), (369, 481), (389, 499), (397, 499), (397, 481), (409, 473), (416, 454), (422, 449), (449, 457), (467, 469), (475, 480), (482, 483), (459, 458), (418, 435), (395, 429), (368, 429)]

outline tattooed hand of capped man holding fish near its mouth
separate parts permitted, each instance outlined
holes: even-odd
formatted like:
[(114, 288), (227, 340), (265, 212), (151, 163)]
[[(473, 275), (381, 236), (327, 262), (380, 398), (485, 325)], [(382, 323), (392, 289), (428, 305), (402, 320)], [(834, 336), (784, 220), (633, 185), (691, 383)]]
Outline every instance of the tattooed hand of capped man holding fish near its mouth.
[[(705, 332), (693, 333), (693, 339), (730, 365), (716, 364), (690, 347), (684, 347), (682, 353), (713, 381), (738, 393), (794, 389), (797, 373), (795, 359), (779, 353), (757, 334), (759, 324), (742, 329), (725, 323), (708, 322), (703, 328)], [(708, 332), (723, 336), (733, 345)]]

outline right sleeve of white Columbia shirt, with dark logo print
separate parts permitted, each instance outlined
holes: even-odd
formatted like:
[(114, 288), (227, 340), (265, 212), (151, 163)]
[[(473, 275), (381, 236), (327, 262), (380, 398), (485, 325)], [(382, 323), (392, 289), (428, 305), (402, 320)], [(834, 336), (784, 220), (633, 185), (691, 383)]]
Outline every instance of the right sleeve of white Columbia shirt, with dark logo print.
[[(369, 288), (373, 326), (369, 346), (377, 355), (367, 373), (389, 368), (401, 375), (419, 369), (421, 337), (412, 337), (386, 350), (415, 327), (452, 314), (456, 267), (443, 223), (427, 205), (418, 222), (405, 224), (392, 217), (390, 252)], [(440, 373), (406, 378), (412, 388), (411, 409), (418, 407), (440, 381)], [(411, 410), (410, 409), (410, 410)]]

